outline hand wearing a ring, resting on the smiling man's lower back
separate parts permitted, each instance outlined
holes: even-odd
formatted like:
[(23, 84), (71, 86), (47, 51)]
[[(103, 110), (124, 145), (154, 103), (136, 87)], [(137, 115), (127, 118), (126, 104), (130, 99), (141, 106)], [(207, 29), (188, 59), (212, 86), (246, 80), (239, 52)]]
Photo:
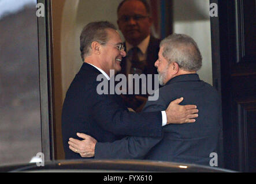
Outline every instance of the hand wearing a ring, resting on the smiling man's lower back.
[(97, 140), (84, 133), (77, 133), (76, 135), (84, 140), (69, 138), (69, 149), (80, 154), (80, 156), (83, 158), (94, 156)]

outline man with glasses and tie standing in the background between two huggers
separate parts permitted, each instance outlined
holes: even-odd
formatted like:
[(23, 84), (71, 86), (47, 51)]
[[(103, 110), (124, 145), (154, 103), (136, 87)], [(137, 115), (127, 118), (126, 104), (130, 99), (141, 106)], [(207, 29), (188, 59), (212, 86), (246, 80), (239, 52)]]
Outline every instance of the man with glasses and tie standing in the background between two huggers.
[[(117, 9), (117, 17), (127, 52), (121, 63), (121, 74), (127, 77), (128, 74), (157, 74), (154, 62), (157, 60), (160, 40), (150, 34), (153, 19), (147, 1), (122, 1)], [(146, 88), (146, 83), (140, 83), (140, 95), (135, 95), (134, 92), (133, 95), (123, 95), (127, 106), (136, 112), (140, 112), (147, 101), (147, 94), (142, 94), (142, 87)], [(158, 86), (154, 88), (157, 89)]]

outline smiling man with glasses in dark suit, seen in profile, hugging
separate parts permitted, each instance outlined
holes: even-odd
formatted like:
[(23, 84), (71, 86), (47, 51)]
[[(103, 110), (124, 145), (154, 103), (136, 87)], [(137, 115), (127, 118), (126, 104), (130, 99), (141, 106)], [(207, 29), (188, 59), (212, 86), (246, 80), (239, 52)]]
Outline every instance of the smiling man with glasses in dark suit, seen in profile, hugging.
[[(62, 137), (66, 159), (79, 159), (79, 149), (69, 150), (68, 139), (76, 132), (87, 133), (101, 142), (112, 142), (124, 135), (161, 136), (166, 123), (194, 122), (196, 106), (170, 103), (162, 112), (129, 112), (118, 95), (99, 94), (98, 86), (109, 83), (110, 70), (121, 70), (126, 55), (121, 37), (109, 22), (91, 22), (80, 36), (83, 66), (69, 87), (62, 108)], [(72, 148), (72, 145), (71, 147)], [(90, 155), (90, 154), (89, 154)]]

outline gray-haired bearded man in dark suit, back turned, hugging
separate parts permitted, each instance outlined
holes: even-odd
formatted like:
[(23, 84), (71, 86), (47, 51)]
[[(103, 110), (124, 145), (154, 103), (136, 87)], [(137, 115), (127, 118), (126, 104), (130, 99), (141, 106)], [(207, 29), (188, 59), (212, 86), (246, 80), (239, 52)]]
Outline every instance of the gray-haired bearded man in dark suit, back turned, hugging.
[[(184, 104), (196, 104), (200, 116), (194, 124), (167, 125), (161, 137), (125, 137), (113, 143), (97, 143), (97, 159), (148, 159), (209, 165), (209, 155), (217, 152), (221, 108), (217, 91), (199, 79), (201, 53), (195, 41), (184, 34), (172, 34), (160, 44), (155, 67), (159, 72), (157, 101), (148, 101), (143, 112), (163, 110), (173, 99), (183, 96)], [(89, 141), (92, 137), (81, 134)], [(86, 153), (86, 150), (81, 150)], [(83, 156), (83, 155), (81, 155)]]

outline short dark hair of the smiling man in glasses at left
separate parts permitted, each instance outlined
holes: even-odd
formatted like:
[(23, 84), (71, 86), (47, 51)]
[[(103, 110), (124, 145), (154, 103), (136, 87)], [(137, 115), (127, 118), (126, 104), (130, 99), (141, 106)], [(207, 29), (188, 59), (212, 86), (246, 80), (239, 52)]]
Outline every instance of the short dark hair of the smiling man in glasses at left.
[(108, 41), (106, 29), (117, 30), (116, 26), (108, 21), (91, 22), (87, 24), (80, 35), (81, 58), (84, 61), (86, 56), (90, 55), (91, 43), (97, 41), (105, 45)]

